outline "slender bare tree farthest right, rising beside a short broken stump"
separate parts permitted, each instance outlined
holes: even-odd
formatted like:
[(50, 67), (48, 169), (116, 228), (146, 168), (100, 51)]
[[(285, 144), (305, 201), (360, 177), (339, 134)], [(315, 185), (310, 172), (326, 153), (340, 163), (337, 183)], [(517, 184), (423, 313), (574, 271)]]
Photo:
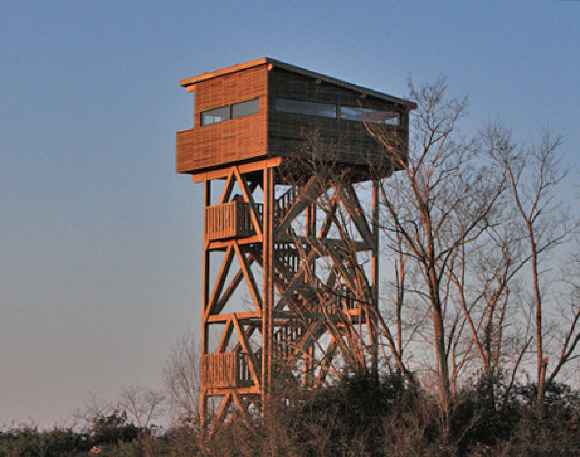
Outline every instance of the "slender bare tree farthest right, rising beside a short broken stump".
[(553, 382), (563, 365), (573, 358), (578, 344), (578, 338), (574, 337), (578, 314), (572, 307), (572, 319), (565, 331), (560, 355), (557, 356), (552, 373), (547, 375), (549, 349), (545, 342), (548, 332), (545, 319), (548, 313), (545, 304), (553, 300), (550, 300), (552, 292), (549, 290), (549, 282), (543, 281), (543, 278), (549, 270), (549, 253), (568, 241), (578, 228), (578, 221), (563, 211), (557, 200), (557, 190), (566, 174), (559, 159), (562, 138), (546, 129), (538, 143), (529, 147), (519, 146), (512, 139), (511, 129), (499, 124), (487, 125), (483, 138), (492, 158), (505, 171), (513, 212), (521, 222), (527, 245), (526, 259), (530, 265), (528, 277), (532, 285), (537, 400), (541, 405), (547, 383)]

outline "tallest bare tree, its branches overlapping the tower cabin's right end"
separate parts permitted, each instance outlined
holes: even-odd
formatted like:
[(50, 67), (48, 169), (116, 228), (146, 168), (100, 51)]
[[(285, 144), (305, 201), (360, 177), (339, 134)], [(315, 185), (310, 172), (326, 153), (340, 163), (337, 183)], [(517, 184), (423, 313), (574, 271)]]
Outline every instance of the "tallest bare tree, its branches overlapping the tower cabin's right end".
[(409, 82), (409, 88), (418, 110), (408, 156), (396, 134), (371, 124), (369, 132), (391, 151), (394, 168), (400, 170), (381, 182), (382, 228), (390, 240), (401, 237), (402, 243), (390, 247), (419, 274), (407, 293), (423, 303), (430, 317), (431, 332), (425, 338), (436, 356), (438, 391), (447, 408), (452, 396), (449, 354), (459, 328), (459, 314), (452, 309), (451, 270), (463, 246), (490, 225), (503, 182), (482, 163), (476, 144), (458, 132), (466, 101), (446, 99), (444, 79), (420, 89)]

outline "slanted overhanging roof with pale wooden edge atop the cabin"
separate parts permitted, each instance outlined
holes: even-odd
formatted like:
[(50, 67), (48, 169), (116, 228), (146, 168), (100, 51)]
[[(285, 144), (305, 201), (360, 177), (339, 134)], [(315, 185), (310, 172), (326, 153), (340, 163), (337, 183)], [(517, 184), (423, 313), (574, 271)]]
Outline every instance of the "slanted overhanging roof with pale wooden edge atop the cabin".
[[(328, 82), (329, 84), (334, 84), (337, 86), (342, 86), (343, 88), (354, 90), (354, 92), (361, 93), (363, 95), (372, 96), (378, 99), (391, 101), (393, 103), (402, 104), (408, 106), (409, 108), (416, 108), (417, 104), (414, 101), (400, 99), (398, 97), (394, 97), (392, 95), (388, 95), (386, 93), (377, 92), (376, 90), (364, 88), (362, 86), (358, 86), (356, 84), (351, 84), (350, 82), (341, 81), (340, 79), (332, 78), (327, 75), (323, 75), (321, 73), (317, 73), (314, 71), (306, 70), (305, 68), (300, 68), (293, 66), (288, 63), (281, 62), (280, 60), (271, 59), (270, 57), (261, 57), (260, 59), (250, 60), (244, 63), (238, 63), (232, 65), (230, 67), (221, 68), (220, 70), (209, 71), (206, 73), (202, 73), (201, 75), (197, 75), (191, 78), (182, 79), (180, 81), (180, 85), (184, 88), (188, 88), (191, 85), (194, 85), (201, 81), (207, 81), (208, 79), (217, 78), (223, 75), (227, 75), (230, 73), (234, 73), (236, 71), (247, 70), (248, 68), (258, 67), (260, 65), (271, 65), (273, 67), (282, 68), (283, 70), (292, 71), (298, 74), (302, 74), (314, 79), (320, 79), (321, 81)], [(190, 89), (191, 90), (191, 89)]]

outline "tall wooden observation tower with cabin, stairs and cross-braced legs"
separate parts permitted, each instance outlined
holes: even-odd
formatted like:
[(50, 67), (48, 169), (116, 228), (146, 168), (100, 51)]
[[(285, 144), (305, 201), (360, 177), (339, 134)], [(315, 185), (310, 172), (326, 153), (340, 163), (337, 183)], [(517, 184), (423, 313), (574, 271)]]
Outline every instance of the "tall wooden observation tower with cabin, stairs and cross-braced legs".
[(205, 186), (202, 416), (376, 369), (376, 180), (396, 166), (369, 130), (405, 157), (416, 105), (269, 58), (181, 85), (194, 125), (176, 169)]

